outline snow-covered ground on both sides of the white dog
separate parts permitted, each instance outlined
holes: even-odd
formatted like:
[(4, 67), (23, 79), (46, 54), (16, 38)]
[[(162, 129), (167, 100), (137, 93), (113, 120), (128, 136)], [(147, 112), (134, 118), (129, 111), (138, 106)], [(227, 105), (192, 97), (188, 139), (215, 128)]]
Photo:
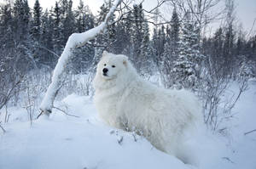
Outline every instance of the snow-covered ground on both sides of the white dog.
[[(251, 82), (236, 104), (230, 135), (199, 136), (195, 143), (199, 168), (256, 168), (256, 132), (244, 135), (256, 129), (255, 100), (256, 84)], [(49, 119), (41, 116), (31, 125), (26, 110), (9, 108), (9, 123), (3, 125), (7, 132), (0, 131), (0, 169), (197, 168), (155, 149), (141, 136), (108, 127), (98, 118), (90, 97), (72, 94), (56, 107), (79, 117), (54, 109)]]

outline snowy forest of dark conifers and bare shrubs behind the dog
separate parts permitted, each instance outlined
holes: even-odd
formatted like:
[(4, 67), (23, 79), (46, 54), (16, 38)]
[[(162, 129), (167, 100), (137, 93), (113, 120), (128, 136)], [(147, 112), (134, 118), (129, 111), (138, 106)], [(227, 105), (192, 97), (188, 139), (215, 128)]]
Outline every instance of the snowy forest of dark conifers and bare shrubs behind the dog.
[[(160, 1), (172, 11), (164, 20), (158, 8), (148, 11), (143, 3), (124, 1), (110, 20), (107, 31), (83, 47), (73, 49), (57, 98), (70, 93), (93, 95), (91, 81), (102, 52), (125, 54), (147, 78), (159, 78), (166, 88), (186, 88), (203, 102), (204, 121), (215, 132), (225, 133), (223, 121), (234, 116), (232, 109), (256, 75), (256, 33), (238, 26), (233, 0), (212, 13), (220, 1)], [(86, 3), (86, 1), (85, 1)], [(29, 8), (26, 0), (7, 1), (0, 8), (0, 125), (9, 121), (9, 106), (20, 105), (30, 121), (37, 115), (52, 70), (67, 38), (102, 23), (112, 1), (105, 1), (97, 14), (80, 1), (60, 0), (48, 9), (38, 0)], [(193, 4), (192, 4), (193, 3)], [(220, 16), (221, 14), (221, 16)], [(222, 24), (212, 35), (207, 26)], [(81, 75), (86, 75), (82, 78)], [(222, 96), (232, 82), (239, 93)], [(59, 108), (56, 108), (59, 109)]]

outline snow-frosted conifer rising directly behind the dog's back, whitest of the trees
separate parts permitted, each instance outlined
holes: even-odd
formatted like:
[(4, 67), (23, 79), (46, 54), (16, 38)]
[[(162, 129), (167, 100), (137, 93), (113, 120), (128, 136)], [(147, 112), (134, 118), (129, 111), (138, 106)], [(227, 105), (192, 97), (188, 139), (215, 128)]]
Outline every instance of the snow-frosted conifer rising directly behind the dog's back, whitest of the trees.
[(189, 14), (183, 21), (179, 55), (174, 62), (174, 83), (177, 88), (196, 89), (200, 79), (201, 62), (204, 56), (200, 52), (200, 29)]

